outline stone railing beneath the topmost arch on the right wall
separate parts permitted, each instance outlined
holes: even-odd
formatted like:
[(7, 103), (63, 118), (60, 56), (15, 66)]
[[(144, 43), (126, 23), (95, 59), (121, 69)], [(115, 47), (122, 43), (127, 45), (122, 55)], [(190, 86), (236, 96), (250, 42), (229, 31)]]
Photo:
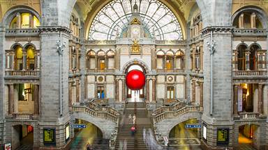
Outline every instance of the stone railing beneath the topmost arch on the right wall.
[(267, 36), (267, 31), (266, 29), (262, 28), (235, 28), (232, 33), (234, 35), (263, 35)]

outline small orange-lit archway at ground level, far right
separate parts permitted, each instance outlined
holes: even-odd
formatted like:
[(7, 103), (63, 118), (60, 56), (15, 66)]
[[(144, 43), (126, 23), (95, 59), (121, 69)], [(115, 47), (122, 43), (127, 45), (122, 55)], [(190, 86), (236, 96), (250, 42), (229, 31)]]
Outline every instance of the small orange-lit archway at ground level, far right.
[(239, 126), (239, 149), (258, 149), (260, 147), (260, 128), (256, 124)]

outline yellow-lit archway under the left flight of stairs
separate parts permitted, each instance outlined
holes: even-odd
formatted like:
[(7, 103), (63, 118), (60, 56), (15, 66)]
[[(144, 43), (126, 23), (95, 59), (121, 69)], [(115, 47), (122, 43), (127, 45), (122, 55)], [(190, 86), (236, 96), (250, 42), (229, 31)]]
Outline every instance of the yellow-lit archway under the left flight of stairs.
[(98, 126), (83, 119), (75, 119), (75, 124), (86, 125), (86, 128), (74, 128), (75, 137), (70, 144), (70, 149), (86, 149), (90, 144), (91, 149), (99, 147), (109, 149), (109, 140), (103, 139), (103, 133)]

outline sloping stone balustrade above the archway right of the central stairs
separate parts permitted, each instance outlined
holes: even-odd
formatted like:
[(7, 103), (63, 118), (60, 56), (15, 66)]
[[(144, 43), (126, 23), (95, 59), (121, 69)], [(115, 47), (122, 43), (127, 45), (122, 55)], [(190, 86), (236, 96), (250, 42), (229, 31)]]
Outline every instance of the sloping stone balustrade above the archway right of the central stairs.
[(172, 111), (164, 111), (163, 113), (156, 113), (156, 111), (152, 114), (154, 123), (161, 122), (163, 119), (168, 119), (172, 117), (178, 117), (179, 115), (184, 115), (189, 112), (198, 112), (200, 106), (185, 106), (179, 110)]

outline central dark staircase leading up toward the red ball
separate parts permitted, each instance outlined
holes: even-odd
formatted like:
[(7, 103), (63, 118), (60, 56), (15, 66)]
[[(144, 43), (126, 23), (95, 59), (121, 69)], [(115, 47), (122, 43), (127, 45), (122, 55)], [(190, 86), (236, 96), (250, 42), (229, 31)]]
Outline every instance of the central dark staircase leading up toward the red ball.
[[(133, 119), (128, 121), (128, 115), (136, 115), (136, 133), (131, 135), (131, 126)], [(119, 125), (119, 132), (117, 134), (117, 144), (115, 149), (121, 149), (124, 141), (127, 143), (128, 150), (142, 150), (147, 149), (143, 140), (143, 129), (151, 128), (151, 117), (147, 114), (144, 102), (128, 102), (123, 117), (121, 117), (121, 125)]]

